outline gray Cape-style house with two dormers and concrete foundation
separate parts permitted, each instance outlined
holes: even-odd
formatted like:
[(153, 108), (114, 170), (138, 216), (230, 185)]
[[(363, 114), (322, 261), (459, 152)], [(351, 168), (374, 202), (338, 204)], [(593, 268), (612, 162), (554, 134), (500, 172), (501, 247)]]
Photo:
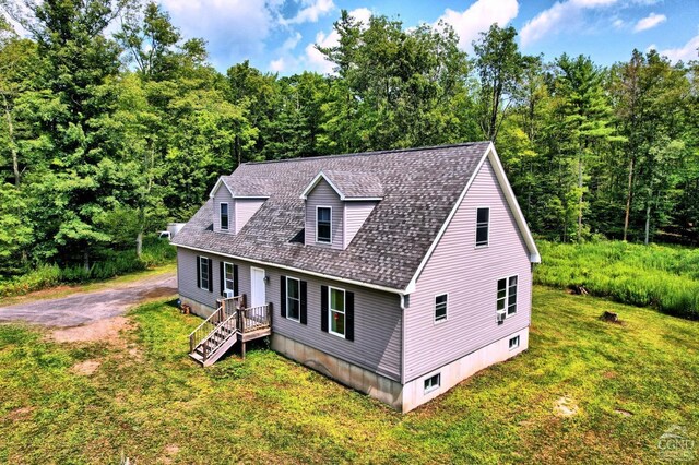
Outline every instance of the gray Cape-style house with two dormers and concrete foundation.
[(194, 312), (245, 295), (274, 350), (402, 412), (528, 347), (540, 255), (489, 142), (244, 164), (173, 243)]

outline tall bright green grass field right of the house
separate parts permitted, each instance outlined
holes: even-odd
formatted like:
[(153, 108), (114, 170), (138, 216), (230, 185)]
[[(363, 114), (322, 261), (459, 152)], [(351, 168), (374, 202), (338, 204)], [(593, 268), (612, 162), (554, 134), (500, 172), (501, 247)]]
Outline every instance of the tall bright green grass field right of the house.
[(620, 241), (538, 242), (534, 282), (699, 319), (699, 249)]

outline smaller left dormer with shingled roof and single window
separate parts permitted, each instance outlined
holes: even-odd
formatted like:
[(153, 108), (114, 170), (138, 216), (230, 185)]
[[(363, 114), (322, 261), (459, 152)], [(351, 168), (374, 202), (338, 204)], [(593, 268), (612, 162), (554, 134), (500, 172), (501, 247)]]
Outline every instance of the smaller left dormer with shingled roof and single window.
[(229, 234), (238, 234), (269, 198), (263, 180), (232, 176), (218, 178), (209, 196), (213, 200), (214, 231)]

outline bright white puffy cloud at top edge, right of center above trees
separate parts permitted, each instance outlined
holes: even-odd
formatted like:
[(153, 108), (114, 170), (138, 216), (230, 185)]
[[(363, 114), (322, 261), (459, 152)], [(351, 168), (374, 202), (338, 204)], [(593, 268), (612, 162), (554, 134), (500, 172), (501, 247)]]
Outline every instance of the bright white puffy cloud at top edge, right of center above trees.
[(517, 17), (518, 11), (517, 0), (477, 0), (462, 12), (448, 8), (437, 22), (441, 20), (453, 27), (459, 35), (459, 48), (471, 51), (479, 33), (488, 31), (493, 23), (505, 26)]

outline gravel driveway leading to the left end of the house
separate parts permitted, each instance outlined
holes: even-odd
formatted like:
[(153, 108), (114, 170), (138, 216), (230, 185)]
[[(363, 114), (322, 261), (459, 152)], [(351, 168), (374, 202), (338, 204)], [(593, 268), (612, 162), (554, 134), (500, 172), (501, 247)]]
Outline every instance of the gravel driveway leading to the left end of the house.
[(45, 326), (78, 326), (117, 317), (147, 299), (177, 294), (175, 273), (119, 285), (115, 289), (79, 293), (0, 308), (0, 322), (26, 321)]

